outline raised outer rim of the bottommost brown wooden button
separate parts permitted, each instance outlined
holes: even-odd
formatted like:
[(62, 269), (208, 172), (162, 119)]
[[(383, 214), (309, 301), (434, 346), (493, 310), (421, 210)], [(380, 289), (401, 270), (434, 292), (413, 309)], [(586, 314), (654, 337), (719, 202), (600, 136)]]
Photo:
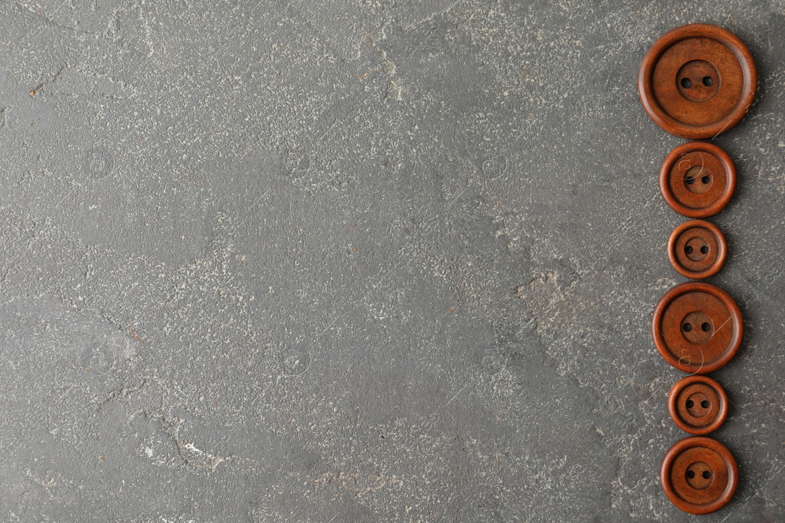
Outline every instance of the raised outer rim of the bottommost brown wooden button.
[[(705, 447), (717, 452), (728, 467), (728, 485), (725, 486), (721, 496), (710, 503), (698, 504), (682, 499), (676, 493), (674, 486), (670, 484), (670, 468), (673, 467), (674, 461), (681, 452), (694, 447)], [(711, 514), (725, 507), (736, 493), (736, 487), (739, 485), (739, 466), (728, 447), (719, 441), (706, 436), (690, 436), (674, 443), (663, 456), (663, 462), (659, 467), (659, 485), (663, 488), (670, 503), (673, 503), (677, 509), (688, 514)]]

